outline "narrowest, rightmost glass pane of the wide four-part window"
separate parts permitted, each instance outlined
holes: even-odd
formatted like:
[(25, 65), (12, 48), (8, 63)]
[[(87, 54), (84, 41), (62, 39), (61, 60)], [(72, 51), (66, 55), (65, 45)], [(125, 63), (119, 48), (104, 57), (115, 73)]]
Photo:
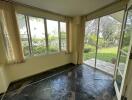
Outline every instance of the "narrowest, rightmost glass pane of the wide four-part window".
[(66, 34), (66, 23), (65, 22), (60, 22), (60, 32), (61, 32), (61, 50), (66, 51), (67, 34)]

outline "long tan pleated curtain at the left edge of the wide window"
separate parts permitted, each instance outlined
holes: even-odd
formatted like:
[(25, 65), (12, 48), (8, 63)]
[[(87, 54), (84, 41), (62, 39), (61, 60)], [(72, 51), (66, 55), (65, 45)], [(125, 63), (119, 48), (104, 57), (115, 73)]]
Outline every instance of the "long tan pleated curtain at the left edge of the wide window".
[[(24, 61), (20, 35), (19, 35), (19, 28), (17, 25), (17, 19), (15, 14), (15, 8), (10, 3), (0, 2), (2, 4), (2, 12), (3, 12), (3, 27), (5, 29), (4, 35), (8, 36), (8, 50), (9, 53), (7, 55), (8, 63), (20, 63)], [(4, 36), (7, 40), (7, 36)], [(7, 41), (5, 41), (7, 43)], [(10, 57), (9, 57), (10, 56)]]

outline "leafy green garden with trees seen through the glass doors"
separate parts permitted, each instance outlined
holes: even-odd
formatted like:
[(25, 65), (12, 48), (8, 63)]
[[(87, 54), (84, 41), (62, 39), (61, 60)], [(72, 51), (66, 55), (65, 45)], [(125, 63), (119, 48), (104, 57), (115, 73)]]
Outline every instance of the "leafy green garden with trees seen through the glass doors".
[[(118, 46), (121, 34), (121, 22), (111, 16), (100, 18), (99, 32), (98, 19), (87, 21), (85, 24), (83, 60), (97, 58), (112, 63), (117, 60)], [(122, 50), (128, 51), (130, 31), (124, 36)], [(97, 50), (97, 51), (96, 51)], [(125, 57), (121, 61), (124, 62)]]

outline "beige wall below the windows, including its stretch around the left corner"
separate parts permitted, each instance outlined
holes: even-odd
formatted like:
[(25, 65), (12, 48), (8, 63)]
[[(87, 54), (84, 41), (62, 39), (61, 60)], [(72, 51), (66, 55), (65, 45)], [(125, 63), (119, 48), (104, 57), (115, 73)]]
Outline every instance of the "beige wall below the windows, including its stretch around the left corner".
[(0, 66), (0, 93), (5, 92), (8, 85), (16, 80), (23, 79), (47, 70), (72, 62), (72, 54), (57, 53), (36, 56), (27, 59), (21, 64)]

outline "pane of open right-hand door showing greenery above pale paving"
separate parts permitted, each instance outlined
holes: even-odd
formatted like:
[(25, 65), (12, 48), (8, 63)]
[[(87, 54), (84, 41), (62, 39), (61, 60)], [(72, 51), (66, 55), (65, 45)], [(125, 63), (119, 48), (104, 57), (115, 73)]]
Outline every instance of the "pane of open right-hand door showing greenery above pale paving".
[(124, 74), (126, 60), (127, 60), (127, 55), (121, 52), (119, 59), (119, 70), (122, 75)]

